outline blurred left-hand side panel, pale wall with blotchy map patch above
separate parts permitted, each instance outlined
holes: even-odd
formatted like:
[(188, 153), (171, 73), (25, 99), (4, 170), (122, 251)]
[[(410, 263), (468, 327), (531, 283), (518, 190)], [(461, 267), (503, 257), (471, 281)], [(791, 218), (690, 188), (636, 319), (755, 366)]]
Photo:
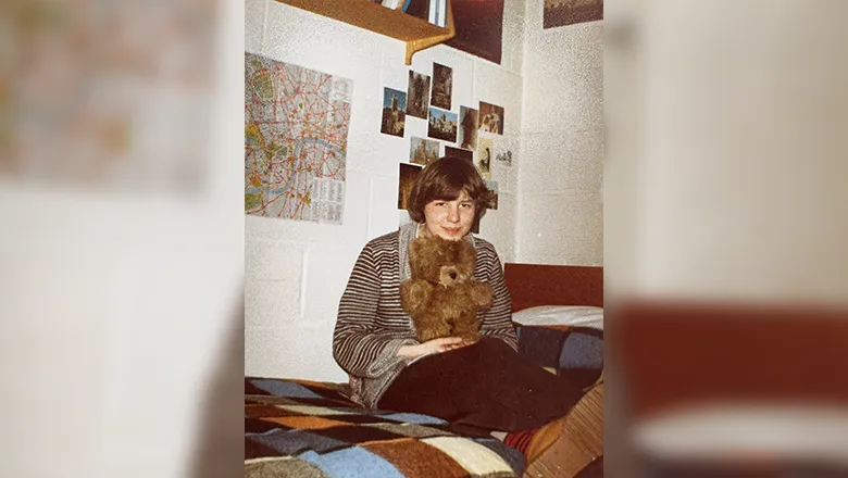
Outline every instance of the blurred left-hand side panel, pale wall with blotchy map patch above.
[(241, 4), (0, 25), (0, 476), (239, 474), (238, 404), (205, 407), (242, 369)]

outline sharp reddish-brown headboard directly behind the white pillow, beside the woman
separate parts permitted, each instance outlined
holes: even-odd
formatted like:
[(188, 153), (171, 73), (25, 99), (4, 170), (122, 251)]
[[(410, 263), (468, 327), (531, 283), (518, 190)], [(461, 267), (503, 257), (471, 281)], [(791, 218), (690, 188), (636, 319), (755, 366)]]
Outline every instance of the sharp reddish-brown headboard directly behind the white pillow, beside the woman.
[(507, 263), (512, 312), (537, 305), (603, 306), (603, 267)]

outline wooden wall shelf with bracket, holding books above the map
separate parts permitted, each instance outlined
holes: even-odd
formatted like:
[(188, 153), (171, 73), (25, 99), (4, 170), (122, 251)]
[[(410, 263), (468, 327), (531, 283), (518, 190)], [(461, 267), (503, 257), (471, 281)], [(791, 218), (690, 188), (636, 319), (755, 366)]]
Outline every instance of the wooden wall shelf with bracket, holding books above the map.
[(364, 28), (369, 32), (396, 38), (407, 43), (406, 63), (412, 64), (412, 55), (426, 48), (445, 42), (457, 34), (453, 12), (448, 0), (447, 28), (381, 7), (369, 0), (277, 0), (328, 18)]

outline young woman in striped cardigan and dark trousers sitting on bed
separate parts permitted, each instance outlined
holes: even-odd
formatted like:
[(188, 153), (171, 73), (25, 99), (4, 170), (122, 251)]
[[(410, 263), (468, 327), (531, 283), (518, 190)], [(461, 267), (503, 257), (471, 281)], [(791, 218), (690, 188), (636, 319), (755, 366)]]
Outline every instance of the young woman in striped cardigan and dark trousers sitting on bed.
[[(491, 199), (471, 162), (442, 158), (425, 167), (412, 188), (408, 210), (413, 222), (363, 248), (333, 338), (334, 357), (350, 376), (353, 400), (363, 406), (423, 413), (465, 432), (488, 433), (541, 427), (565, 415), (583, 395), (517, 353), (500, 259), (489, 242), (470, 232)], [(456, 337), (417, 342), (400, 305), (400, 284), (410, 277), (408, 247), (421, 235), (474, 247), (474, 278), (492, 290), (491, 307), (478, 314), (477, 342)]]

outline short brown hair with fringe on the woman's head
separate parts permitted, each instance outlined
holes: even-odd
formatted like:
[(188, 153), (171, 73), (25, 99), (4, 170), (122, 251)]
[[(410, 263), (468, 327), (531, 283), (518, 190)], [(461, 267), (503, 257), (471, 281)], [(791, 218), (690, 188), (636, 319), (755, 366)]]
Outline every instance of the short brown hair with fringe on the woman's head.
[(424, 206), (431, 201), (453, 201), (462, 191), (474, 201), (474, 221), (479, 221), (486, 207), (495, 199), (495, 192), (467, 160), (444, 156), (427, 165), (421, 172), (409, 196), (407, 211), (412, 221), (424, 222)]

